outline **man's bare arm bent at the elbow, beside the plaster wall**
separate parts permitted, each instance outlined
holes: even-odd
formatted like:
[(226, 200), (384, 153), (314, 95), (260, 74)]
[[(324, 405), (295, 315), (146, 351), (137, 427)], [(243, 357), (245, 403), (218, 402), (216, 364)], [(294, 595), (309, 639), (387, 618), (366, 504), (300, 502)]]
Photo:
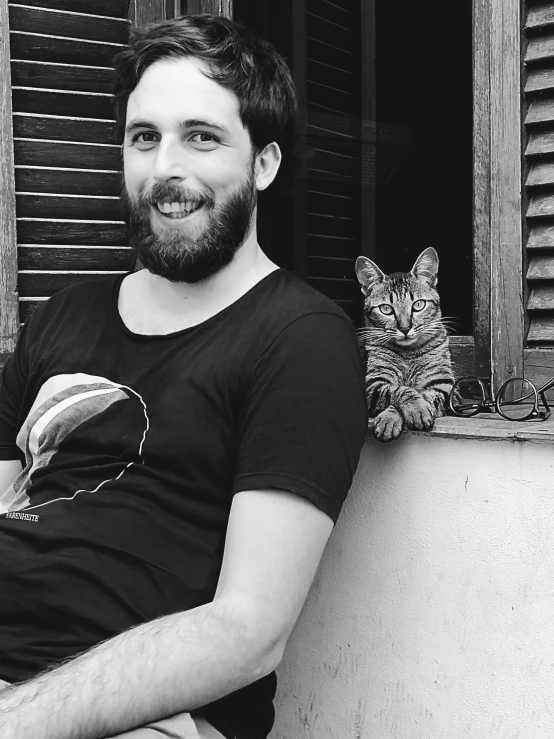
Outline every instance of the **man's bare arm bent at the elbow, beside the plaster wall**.
[(101, 739), (190, 711), (279, 663), (329, 517), (278, 491), (235, 496), (213, 603), (121, 634), (0, 693), (3, 739)]

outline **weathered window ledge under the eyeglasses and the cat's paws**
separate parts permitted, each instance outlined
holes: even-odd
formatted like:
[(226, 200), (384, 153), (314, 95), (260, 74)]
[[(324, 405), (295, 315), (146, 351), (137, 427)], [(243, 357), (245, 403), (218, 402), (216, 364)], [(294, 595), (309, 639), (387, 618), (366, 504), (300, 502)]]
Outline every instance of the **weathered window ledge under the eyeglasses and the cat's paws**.
[[(372, 426), (372, 419), (369, 426)], [(546, 421), (506, 421), (498, 415), (479, 413), (473, 418), (437, 418), (430, 431), (408, 431), (418, 436), (447, 436), (453, 439), (507, 439), (554, 443), (554, 415)]]

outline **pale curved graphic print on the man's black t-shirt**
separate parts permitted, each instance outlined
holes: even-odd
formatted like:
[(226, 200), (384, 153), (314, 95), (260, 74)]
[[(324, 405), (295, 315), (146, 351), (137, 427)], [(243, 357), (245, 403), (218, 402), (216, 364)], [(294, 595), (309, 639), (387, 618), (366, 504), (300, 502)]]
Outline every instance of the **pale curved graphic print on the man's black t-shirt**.
[(44, 508), (119, 480), (142, 464), (148, 428), (146, 405), (131, 388), (82, 373), (51, 377), (17, 435), (26, 464), (2, 496), (12, 501), (8, 511)]

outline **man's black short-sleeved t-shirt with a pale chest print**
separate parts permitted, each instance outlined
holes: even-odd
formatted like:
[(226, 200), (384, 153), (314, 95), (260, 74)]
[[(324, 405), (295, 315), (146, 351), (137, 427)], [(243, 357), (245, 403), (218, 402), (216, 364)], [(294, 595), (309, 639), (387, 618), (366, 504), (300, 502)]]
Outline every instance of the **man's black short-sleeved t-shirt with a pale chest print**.
[[(336, 520), (366, 429), (353, 328), (277, 270), (209, 320), (134, 334), (124, 276), (31, 316), (0, 387), (0, 679), (213, 599), (235, 493), (279, 489)], [(2, 491), (0, 491), (0, 494)], [(275, 675), (199, 711), (263, 739)]]

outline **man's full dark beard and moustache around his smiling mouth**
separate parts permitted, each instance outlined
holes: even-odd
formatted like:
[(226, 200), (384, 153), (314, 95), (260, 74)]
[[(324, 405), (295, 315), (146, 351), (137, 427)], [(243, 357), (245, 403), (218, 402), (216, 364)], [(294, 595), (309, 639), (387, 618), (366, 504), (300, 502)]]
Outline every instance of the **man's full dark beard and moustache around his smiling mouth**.
[[(150, 222), (150, 207), (157, 202), (203, 201), (208, 223), (193, 237), (181, 228), (168, 226), (156, 233)], [(221, 205), (213, 196), (192, 192), (177, 185), (155, 184), (133, 197), (126, 188), (122, 199), (129, 222), (129, 239), (143, 267), (171, 282), (194, 284), (207, 280), (233, 260), (250, 231), (257, 190), (253, 168), (246, 181)]]

